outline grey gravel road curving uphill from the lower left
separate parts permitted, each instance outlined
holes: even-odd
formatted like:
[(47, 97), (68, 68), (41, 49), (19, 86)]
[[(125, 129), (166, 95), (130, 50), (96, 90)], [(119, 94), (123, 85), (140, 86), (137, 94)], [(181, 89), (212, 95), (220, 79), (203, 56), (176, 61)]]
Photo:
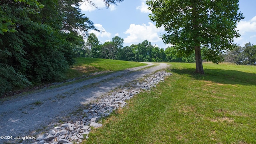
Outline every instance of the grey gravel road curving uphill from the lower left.
[[(167, 68), (164, 63), (153, 67), (150, 67), (152, 63), (147, 64), (59, 88), (14, 96), (11, 100), (1, 102), (0, 136), (28, 136), (32, 131), (68, 116), (82, 104), (88, 104), (119, 86)], [(4, 141), (0, 139), (0, 144)]]

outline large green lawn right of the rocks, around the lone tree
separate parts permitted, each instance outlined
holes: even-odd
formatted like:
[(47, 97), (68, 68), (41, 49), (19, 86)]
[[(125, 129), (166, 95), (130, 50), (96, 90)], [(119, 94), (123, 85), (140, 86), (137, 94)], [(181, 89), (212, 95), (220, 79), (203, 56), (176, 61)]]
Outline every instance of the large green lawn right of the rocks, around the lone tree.
[(94, 129), (84, 144), (256, 144), (256, 66), (171, 63), (172, 76)]

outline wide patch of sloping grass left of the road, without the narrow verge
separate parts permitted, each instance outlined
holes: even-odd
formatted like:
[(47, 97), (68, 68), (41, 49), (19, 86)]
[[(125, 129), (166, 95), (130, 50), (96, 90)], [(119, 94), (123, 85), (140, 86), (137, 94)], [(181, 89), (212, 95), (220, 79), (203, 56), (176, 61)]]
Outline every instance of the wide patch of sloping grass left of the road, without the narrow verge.
[(109, 60), (101, 58), (76, 58), (76, 64), (68, 70), (66, 77), (76, 78), (82, 75), (89, 75), (94, 72), (119, 71), (127, 68), (145, 66), (139, 62), (128, 62), (123, 60)]

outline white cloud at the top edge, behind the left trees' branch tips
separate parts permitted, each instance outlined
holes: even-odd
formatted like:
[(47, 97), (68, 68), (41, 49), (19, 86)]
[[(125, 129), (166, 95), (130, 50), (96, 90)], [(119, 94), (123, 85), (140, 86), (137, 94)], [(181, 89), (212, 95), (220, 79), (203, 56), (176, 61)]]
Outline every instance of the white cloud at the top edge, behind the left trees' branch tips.
[[(91, 0), (91, 1), (95, 4), (95, 6), (96, 6), (98, 9), (102, 9), (102, 8), (105, 8), (105, 7), (106, 7), (106, 6), (105, 6), (105, 3), (104, 3), (102, 0)], [(89, 11), (89, 12), (94, 11), (94, 10), (97, 10), (96, 7), (92, 6), (92, 5), (89, 4), (87, 1), (82, 2), (82, 3), (81, 3), (81, 6), (80, 6), (80, 8), (81, 8), (82, 11)], [(110, 5), (110, 6), (109, 6), (109, 9), (110, 9), (111, 11), (116, 10), (116, 6), (115, 6), (115, 5)]]

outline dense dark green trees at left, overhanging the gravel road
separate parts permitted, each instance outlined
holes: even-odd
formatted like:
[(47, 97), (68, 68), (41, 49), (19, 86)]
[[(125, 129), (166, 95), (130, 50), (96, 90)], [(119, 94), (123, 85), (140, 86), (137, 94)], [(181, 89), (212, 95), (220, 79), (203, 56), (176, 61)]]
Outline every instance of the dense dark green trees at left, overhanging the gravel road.
[[(0, 1), (0, 95), (64, 77), (77, 51), (84, 48), (79, 33), (96, 30), (81, 14), (82, 1)], [(122, 0), (103, 1), (108, 7)]]

